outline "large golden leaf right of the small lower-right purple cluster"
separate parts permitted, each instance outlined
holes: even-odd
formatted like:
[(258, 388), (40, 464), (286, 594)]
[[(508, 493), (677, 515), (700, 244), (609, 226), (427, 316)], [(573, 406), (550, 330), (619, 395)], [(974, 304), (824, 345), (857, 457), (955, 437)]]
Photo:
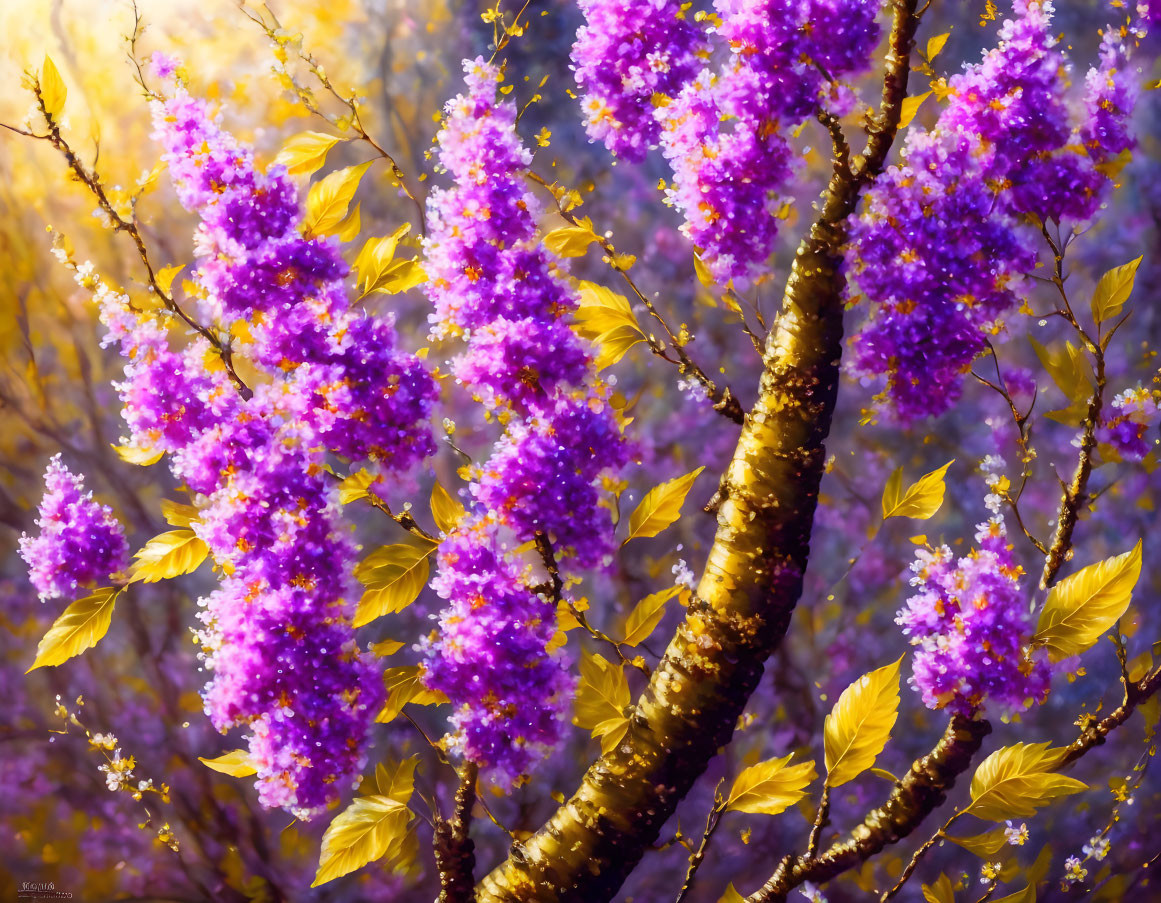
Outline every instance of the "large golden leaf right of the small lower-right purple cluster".
[(1066, 577), (1048, 592), (1033, 643), (1059, 662), (1096, 643), (1125, 613), (1141, 576), (1141, 543)]

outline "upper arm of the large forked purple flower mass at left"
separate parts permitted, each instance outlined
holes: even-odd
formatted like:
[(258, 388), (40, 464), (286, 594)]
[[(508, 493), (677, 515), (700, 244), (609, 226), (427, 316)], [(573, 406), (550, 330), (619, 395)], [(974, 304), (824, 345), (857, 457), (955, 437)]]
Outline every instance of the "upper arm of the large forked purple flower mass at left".
[(296, 413), (330, 450), (396, 468), (434, 452), (434, 380), (396, 349), (389, 318), (352, 309), (337, 241), (300, 232), (286, 171), (257, 168), (183, 88), (156, 103), (153, 118), (178, 197), (201, 217), (203, 312), (226, 326), (247, 320), (255, 362), (284, 378)]

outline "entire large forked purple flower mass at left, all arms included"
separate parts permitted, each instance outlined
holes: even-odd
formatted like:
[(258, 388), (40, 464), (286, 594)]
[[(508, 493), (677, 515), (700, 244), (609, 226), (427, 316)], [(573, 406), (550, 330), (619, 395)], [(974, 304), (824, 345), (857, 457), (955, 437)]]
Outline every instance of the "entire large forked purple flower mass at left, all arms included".
[(255, 167), (183, 87), (153, 111), (178, 196), (201, 219), (201, 313), (248, 335), (237, 351), (268, 378), (244, 397), (207, 340), (174, 348), (89, 265), (77, 277), (128, 360), (117, 388), (130, 446), (171, 453), (199, 504), (192, 527), (225, 575), (200, 601), (207, 714), (250, 731), (261, 802), (309, 818), (358, 779), (383, 693), (355, 644), (355, 549), (326, 455), (414, 463), (433, 449), (437, 389), (395, 348), (390, 322), (352, 310), (338, 247), (301, 234), (284, 171)]

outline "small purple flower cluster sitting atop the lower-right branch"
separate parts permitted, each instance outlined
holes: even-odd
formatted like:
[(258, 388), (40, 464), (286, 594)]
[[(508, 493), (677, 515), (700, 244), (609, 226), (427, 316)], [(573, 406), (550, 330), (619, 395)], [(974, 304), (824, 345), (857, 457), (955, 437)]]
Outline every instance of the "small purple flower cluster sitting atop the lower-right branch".
[(911, 682), (933, 709), (1026, 708), (1047, 695), (1051, 672), (1043, 653), (1027, 648), (1024, 571), (1001, 516), (979, 525), (975, 540), (979, 549), (958, 561), (946, 546), (916, 554), (911, 585), (918, 592), (895, 619), (917, 646)]

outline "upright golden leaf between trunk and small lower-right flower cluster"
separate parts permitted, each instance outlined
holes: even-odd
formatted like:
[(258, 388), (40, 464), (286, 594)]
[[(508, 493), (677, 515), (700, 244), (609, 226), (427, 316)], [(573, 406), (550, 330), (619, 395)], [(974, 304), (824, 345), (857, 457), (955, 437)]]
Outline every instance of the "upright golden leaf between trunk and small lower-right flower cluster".
[(843, 691), (823, 722), (827, 785), (841, 787), (874, 765), (899, 717), (903, 658), (864, 674)]

